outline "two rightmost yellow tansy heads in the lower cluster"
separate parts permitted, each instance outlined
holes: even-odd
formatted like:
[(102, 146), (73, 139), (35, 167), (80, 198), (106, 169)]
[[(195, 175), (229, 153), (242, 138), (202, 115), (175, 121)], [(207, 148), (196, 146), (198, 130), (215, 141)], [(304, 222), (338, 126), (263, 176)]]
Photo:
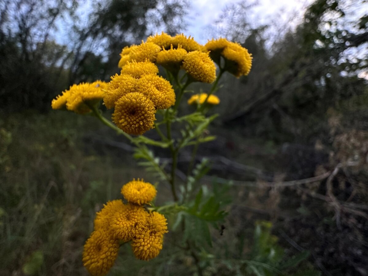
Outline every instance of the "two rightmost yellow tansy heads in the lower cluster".
[(150, 213), (147, 222), (147, 227), (138, 230), (132, 240), (134, 255), (146, 261), (155, 258), (160, 253), (163, 234), (167, 233), (166, 218), (160, 213)]

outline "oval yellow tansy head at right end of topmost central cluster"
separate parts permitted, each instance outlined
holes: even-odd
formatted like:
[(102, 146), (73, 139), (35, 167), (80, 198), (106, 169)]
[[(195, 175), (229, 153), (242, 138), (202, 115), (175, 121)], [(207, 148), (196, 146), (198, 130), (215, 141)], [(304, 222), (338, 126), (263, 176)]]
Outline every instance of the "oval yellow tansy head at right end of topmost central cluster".
[(196, 81), (211, 83), (216, 79), (216, 65), (208, 53), (190, 52), (184, 57), (183, 69)]

